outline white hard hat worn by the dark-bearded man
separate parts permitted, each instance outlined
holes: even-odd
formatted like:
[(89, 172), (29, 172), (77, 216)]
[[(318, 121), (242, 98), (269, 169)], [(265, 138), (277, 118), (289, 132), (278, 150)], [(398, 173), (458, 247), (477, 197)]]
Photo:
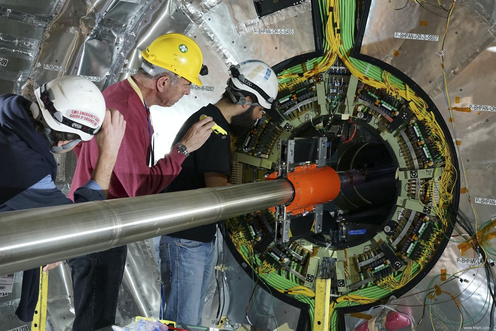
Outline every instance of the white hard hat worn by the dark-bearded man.
[[(248, 104), (244, 101), (243, 94), (237, 90), (244, 90), (253, 93), (258, 99), (258, 104), (270, 109), (276, 105), (279, 82), (272, 68), (266, 63), (258, 60), (248, 60), (229, 68), (231, 78), (228, 80), (226, 90), (234, 96), (242, 97), (237, 103)], [(236, 102), (235, 100), (233, 100)]]

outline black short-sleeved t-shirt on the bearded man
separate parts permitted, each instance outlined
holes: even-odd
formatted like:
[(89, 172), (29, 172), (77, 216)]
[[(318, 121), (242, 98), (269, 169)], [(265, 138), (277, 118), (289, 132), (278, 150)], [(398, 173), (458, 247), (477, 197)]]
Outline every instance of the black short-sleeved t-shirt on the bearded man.
[[(219, 108), (212, 104), (201, 108), (191, 115), (179, 130), (174, 138), (173, 146), (178, 143), (191, 128), (198, 122), (201, 115), (211, 116), (218, 126), (227, 132), (227, 136), (220, 136), (216, 133), (210, 134), (207, 141), (197, 150), (189, 153), (182, 164), (182, 170), (166, 189), (166, 192), (177, 192), (186, 190), (196, 190), (205, 187), (203, 174), (215, 172), (226, 176), (231, 176), (231, 139), (229, 137), (229, 123), (220, 112)], [(215, 223), (200, 225), (198, 227), (170, 233), (169, 236), (187, 240), (201, 241), (209, 243), (214, 239), (216, 232)]]

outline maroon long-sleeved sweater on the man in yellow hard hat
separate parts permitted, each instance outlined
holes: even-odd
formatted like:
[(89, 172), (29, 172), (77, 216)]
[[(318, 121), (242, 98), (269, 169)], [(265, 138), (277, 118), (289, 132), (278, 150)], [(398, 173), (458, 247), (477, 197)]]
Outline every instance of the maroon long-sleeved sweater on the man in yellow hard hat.
[[(151, 142), (148, 114), (141, 98), (128, 80), (112, 84), (103, 91), (103, 96), (107, 107), (119, 110), (126, 121), (124, 138), (110, 180), (108, 199), (159, 193), (179, 174), (185, 156), (174, 147), (157, 164), (149, 167)], [(153, 134), (153, 127), (151, 132)], [(70, 199), (73, 199), (75, 189), (91, 178), (95, 169), (98, 158), (96, 140), (79, 143), (74, 151), (77, 166), (70, 187)]]

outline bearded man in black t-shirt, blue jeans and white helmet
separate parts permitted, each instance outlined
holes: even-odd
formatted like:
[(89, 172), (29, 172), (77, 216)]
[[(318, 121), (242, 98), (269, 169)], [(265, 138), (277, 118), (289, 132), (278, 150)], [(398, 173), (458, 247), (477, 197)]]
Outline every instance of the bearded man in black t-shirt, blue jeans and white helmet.
[[(231, 176), (231, 138), (246, 133), (264, 108), (276, 100), (278, 80), (267, 64), (245, 61), (230, 67), (228, 86), (222, 98), (191, 115), (174, 140), (181, 137), (200, 116), (207, 115), (226, 131), (211, 134), (183, 162), (180, 174), (167, 187), (167, 192), (194, 190), (229, 185)], [(178, 150), (184, 149), (179, 144)], [(186, 154), (187, 155), (187, 151)], [(210, 284), (214, 260), (216, 224), (201, 225), (161, 236), (157, 259), (160, 262), (165, 302), (164, 319), (201, 325), (205, 295)]]

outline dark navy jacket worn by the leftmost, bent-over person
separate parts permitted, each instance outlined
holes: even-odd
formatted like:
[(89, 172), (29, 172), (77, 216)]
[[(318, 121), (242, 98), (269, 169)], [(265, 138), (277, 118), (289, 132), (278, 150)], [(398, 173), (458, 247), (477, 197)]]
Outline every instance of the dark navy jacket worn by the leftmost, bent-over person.
[[(57, 177), (50, 144), (27, 115), (30, 106), (31, 102), (22, 96), (0, 95), (0, 211), (72, 203), (55, 185), (47, 190), (28, 190), (47, 176), (53, 182)], [(101, 188), (90, 182), (74, 193), (75, 202), (105, 199)], [(39, 282), (40, 268), (24, 271), (21, 299), (15, 311), (21, 321), (33, 320)]]

